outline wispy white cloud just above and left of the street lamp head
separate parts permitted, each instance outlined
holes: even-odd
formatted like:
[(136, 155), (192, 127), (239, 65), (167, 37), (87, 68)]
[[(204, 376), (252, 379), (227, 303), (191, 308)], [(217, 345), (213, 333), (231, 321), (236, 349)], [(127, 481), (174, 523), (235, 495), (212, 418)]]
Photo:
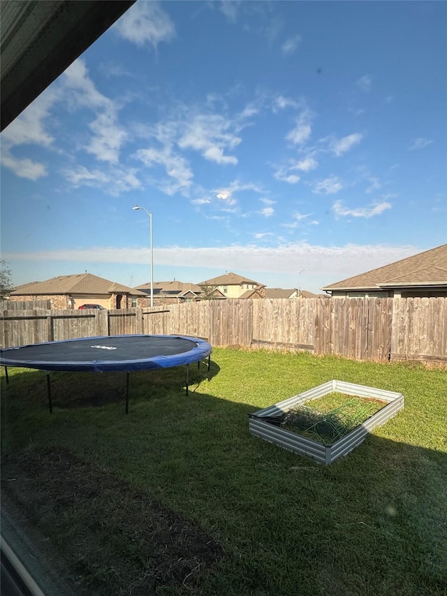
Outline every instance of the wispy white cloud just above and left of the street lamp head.
[(119, 196), (123, 192), (128, 192), (142, 188), (142, 184), (137, 177), (138, 170), (135, 168), (120, 168), (110, 166), (107, 171), (93, 169), (89, 170), (85, 166), (76, 168), (67, 168), (63, 171), (66, 180), (75, 188), (82, 186), (100, 188), (112, 196)]

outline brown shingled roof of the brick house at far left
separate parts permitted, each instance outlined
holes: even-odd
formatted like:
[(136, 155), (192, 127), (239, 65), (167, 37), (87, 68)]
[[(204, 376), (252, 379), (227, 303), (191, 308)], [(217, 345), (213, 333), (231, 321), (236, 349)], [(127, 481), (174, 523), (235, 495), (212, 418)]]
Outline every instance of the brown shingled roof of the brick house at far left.
[(111, 294), (126, 293), (132, 296), (145, 296), (144, 293), (123, 286), (110, 279), (104, 279), (91, 273), (59, 275), (46, 279), (45, 282), (31, 282), (17, 286), (10, 296), (51, 296), (55, 294)]

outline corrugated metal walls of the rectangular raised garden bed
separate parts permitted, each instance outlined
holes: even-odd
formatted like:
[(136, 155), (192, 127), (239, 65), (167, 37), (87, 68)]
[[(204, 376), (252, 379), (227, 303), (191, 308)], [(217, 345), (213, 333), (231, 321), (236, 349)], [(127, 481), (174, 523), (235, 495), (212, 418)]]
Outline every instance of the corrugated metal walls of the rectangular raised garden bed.
[[(374, 398), (388, 403), (386, 406), (379, 409), (379, 412), (376, 412), (376, 414), (354, 428), (351, 433), (348, 433), (346, 436), (330, 445), (322, 444), (313, 439), (308, 439), (307, 437), (302, 437), (298, 433), (294, 433), (292, 430), (280, 428), (265, 420), (285, 414), (293, 407), (310, 400), (322, 398), (323, 395), (327, 395), (333, 391), (339, 391), (340, 393), (346, 393), (347, 395), (357, 395), (360, 398)], [(300, 455), (312, 457), (314, 460), (318, 461), (318, 463), (328, 465), (337, 458), (346, 456), (350, 453), (350, 451), (355, 449), (356, 446), (365, 440), (372, 428), (385, 424), (403, 407), (404, 395), (402, 395), (402, 393), (332, 380), (323, 383), (323, 385), (318, 385), (318, 387), (309, 389), (309, 391), (293, 395), (292, 398), (288, 398), (275, 405), (260, 409), (254, 414), (249, 414), (249, 431), (252, 435), (261, 437), (261, 439), (265, 439), (270, 443), (275, 443), (284, 447), (284, 449), (294, 451)]]

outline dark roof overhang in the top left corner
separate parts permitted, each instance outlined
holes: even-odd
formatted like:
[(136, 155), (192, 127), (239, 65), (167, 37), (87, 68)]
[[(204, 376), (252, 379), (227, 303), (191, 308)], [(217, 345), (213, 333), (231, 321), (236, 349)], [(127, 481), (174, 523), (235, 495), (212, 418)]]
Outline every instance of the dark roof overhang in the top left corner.
[(135, 0), (1, 0), (1, 130)]

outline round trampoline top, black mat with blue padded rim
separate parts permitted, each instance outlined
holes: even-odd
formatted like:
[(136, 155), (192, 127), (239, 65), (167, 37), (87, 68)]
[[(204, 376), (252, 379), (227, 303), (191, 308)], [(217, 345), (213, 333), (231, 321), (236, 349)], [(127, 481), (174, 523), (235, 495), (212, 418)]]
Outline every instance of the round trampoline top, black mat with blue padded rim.
[(112, 335), (0, 350), (1, 366), (41, 370), (149, 370), (198, 362), (211, 344), (185, 335)]

